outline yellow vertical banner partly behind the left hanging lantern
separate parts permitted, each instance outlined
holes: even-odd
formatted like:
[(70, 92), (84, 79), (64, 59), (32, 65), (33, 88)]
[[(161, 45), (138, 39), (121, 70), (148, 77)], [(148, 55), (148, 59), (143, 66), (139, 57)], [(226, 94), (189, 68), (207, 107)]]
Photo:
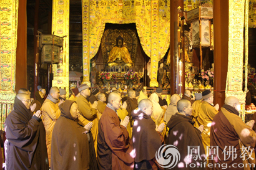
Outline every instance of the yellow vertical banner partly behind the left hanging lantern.
[[(64, 37), (59, 51), (60, 64), (53, 65), (52, 87), (66, 88), (69, 94), (69, 0), (52, 1), (52, 33)], [(55, 52), (55, 51), (54, 51)]]

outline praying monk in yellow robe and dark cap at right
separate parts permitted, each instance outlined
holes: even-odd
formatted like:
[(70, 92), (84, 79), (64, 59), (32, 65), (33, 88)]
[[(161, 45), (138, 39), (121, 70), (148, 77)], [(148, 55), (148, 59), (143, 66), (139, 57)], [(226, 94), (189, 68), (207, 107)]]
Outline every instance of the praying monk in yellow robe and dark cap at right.
[(204, 131), (202, 133), (202, 139), (204, 144), (205, 153), (207, 152), (207, 146), (210, 146), (210, 126), (214, 116), (218, 113), (219, 104), (212, 106), (214, 103), (214, 95), (210, 90), (205, 90), (202, 93), (203, 102), (199, 106), (197, 123), (198, 126), (204, 125)]

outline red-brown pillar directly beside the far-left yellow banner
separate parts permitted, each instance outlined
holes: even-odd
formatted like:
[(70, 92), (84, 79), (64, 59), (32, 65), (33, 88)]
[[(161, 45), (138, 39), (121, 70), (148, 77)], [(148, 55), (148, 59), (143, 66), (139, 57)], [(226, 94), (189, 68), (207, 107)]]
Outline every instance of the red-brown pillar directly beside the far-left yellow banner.
[(15, 91), (27, 88), (27, 0), (19, 0)]

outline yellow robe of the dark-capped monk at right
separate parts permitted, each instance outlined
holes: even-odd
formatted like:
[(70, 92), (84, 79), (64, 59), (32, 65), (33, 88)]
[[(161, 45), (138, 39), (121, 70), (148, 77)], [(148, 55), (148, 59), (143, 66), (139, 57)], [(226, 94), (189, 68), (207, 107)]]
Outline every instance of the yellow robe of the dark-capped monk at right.
[(204, 131), (202, 132), (202, 140), (204, 144), (205, 154), (207, 153), (207, 147), (210, 146), (210, 126), (214, 116), (219, 111), (210, 105), (210, 103), (203, 101), (199, 106), (199, 114), (197, 117), (198, 126), (204, 125)]

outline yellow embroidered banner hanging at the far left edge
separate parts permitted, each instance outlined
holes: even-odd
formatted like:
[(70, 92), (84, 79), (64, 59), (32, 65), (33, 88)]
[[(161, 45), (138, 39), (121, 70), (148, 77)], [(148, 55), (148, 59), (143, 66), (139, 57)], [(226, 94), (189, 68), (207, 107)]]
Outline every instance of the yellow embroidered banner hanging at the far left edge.
[(11, 111), (16, 96), (15, 70), (17, 47), (18, 0), (0, 1), (0, 130), (4, 131), (4, 121)]

